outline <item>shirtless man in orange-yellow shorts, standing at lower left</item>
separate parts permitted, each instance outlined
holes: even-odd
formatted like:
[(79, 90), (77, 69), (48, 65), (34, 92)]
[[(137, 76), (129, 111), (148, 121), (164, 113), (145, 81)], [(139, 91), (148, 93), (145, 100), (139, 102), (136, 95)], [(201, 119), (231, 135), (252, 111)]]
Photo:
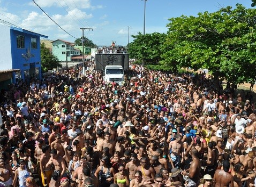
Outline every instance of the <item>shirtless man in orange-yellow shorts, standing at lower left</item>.
[(49, 186), (50, 180), (51, 180), (51, 165), (46, 167), (47, 162), (50, 160), (50, 146), (49, 145), (43, 145), (42, 146), (42, 152), (43, 154), (40, 157), (40, 170), (41, 170), (41, 176), (42, 176), (42, 184), (44, 186), (44, 181), (47, 180), (47, 185)]

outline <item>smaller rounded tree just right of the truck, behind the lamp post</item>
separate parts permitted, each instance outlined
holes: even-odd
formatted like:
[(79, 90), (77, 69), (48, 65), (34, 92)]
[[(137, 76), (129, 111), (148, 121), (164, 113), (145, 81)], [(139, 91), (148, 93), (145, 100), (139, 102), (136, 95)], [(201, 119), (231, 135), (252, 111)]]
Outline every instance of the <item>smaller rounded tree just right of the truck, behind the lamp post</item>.
[(166, 34), (154, 32), (152, 34), (132, 35), (133, 42), (129, 44), (130, 58), (136, 58), (139, 61), (144, 60), (145, 63), (155, 64), (162, 60), (160, 54), (162, 53), (163, 44)]

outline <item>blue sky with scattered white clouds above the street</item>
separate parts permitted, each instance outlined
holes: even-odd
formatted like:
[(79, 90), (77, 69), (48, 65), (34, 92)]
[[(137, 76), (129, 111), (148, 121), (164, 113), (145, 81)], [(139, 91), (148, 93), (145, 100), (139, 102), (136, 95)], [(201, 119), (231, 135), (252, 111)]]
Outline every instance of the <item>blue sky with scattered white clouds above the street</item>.
[[(85, 36), (97, 45), (127, 45), (131, 35), (143, 33), (144, 1), (141, 0), (34, 0), (59, 26), (75, 38), (81, 27), (93, 28)], [(215, 12), (221, 7), (243, 4), (251, 8), (251, 0), (148, 0), (146, 2), (146, 34), (167, 32), (169, 18)], [(75, 38), (58, 28), (32, 0), (0, 0), (0, 21), (47, 35), (50, 40)]]

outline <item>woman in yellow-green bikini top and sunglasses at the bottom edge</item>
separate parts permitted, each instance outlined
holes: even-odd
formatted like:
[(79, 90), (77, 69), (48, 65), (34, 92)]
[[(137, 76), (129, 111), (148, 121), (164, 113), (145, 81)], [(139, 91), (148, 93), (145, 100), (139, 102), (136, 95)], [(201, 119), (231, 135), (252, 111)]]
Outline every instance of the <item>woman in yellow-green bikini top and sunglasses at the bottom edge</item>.
[(119, 172), (114, 175), (114, 183), (118, 184), (119, 187), (128, 187), (130, 183), (129, 175), (125, 172), (123, 164), (119, 165), (118, 171)]

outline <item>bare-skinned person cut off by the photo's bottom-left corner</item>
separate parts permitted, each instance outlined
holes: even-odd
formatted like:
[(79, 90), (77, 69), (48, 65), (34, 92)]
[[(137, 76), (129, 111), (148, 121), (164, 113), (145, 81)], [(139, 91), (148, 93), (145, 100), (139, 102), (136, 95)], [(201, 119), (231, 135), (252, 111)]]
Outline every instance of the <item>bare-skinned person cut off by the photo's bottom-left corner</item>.
[(12, 184), (14, 175), (12, 173), (12, 168), (10, 165), (5, 164), (3, 158), (0, 158), (0, 184), (4, 186)]

